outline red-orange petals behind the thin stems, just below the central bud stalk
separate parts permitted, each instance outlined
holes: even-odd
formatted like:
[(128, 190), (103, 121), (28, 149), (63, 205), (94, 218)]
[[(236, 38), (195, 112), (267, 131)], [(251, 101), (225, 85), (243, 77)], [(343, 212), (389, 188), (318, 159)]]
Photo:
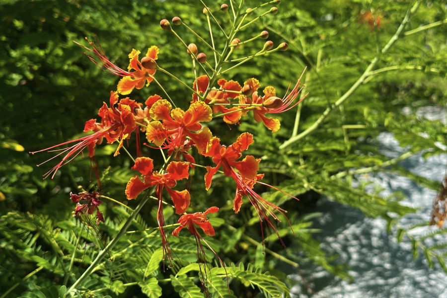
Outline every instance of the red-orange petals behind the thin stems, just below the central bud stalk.
[[(230, 80), (226, 81), (225, 79), (220, 79), (218, 81), (218, 84), (221, 86), (221, 89), (223, 90), (232, 90), (232, 91), (240, 91), (241, 86), (238, 82)], [(197, 91), (199, 94), (204, 94), (208, 88), (209, 85), (209, 78), (206, 75), (199, 76), (196, 81), (193, 84), (193, 89)], [(213, 113), (217, 114), (219, 112), (222, 112), (224, 115), (224, 122), (228, 124), (235, 124), (238, 123), (242, 113), (239, 111), (239, 108), (233, 107), (233, 108), (226, 108), (225, 105), (230, 103), (229, 98), (237, 98), (239, 93), (234, 92), (226, 92), (221, 90), (211, 90), (207, 98), (205, 99), (205, 103), (207, 104), (218, 104), (213, 105)], [(198, 101), (198, 97), (196, 94), (193, 94), (193, 102)]]

